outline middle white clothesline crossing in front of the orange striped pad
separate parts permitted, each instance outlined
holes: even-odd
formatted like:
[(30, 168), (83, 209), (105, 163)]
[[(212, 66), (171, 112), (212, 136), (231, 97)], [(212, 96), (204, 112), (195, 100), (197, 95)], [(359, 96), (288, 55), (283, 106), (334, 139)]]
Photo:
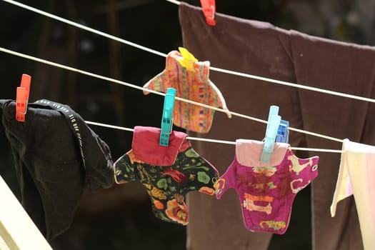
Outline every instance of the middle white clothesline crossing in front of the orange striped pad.
[[(86, 76), (91, 76), (91, 77), (94, 77), (96, 79), (102, 79), (104, 81), (110, 81), (110, 82), (115, 83), (115, 84), (121, 84), (121, 85), (124, 85), (124, 86), (129, 86), (129, 87), (131, 87), (133, 89), (139, 89), (141, 91), (148, 91), (148, 92), (153, 93), (153, 94), (158, 94), (160, 96), (165, 96), (164, 93), (161, 93), (161, 92), (158, 92), (158, 91), (154, 91), (154, 90), (151, 90), (151, 89), (146, 89), (144, 87), (136, 86), (134, 84), (129, 84), (129, 83), (125, 82), (125, 81), (116, 80), (116, 79), (113, 79), (113, 78), (110, 78), (110, 77), (107, 77), (107, 76), (101, 76), (99, 74), (90, 73), (88, 71), (83, 71), (81, 69), (75, 69), (75, 68), (70, 67), (70, 66), (65, 66), (63, 64), (57, 64), (57, 63), (55, 63), (53, 61), (47, 61), (47, 60), (44, 60), (44, 59), (39, 59), (39, 58), (37, 58), (35, 56), (29, 56), (29, 55), (22, 54), (22, 53), (19, 53), (19, 52), (16, 52), (16, 51), (11, 51), (9, 49), (4, 49), (2, 47), (0, 47), (0, 51), (2, 51), (4, 53), (7, 53), (7, 54), (12, 54), (14, 56), (19, 56), (19, 57), (22, 57), (22, 58), (25, 58), (25, 59), (29, 59), (29, 60), (32, 60), (32, 61), (38, 61), (38, 62), (40, 62), (42, 64), (47, 64), (47, 65), (55, 66), (55, 67), (58, 67), (58, 68), (61, 68), (61, 69), (69, 70), (69, 71), (74, 71), (76, 73), (84, 74)], [(222, 113), (225, 113), (225, 114), (231, 114), (233, 116), (239, 116), (239, 117), (244, 118), (244, 119), (249, 119), (251, 121), (258, 121), (258, 122), (267, 124), (267, 121), (262, 120), (262, 119), (258, 119), (258, 118), (252, 117), (252, 116), (246, 116), (244, 114), (239, 114), (239, 113), (236, 113), (236, 112), (233, 112), (233, 111), (226, 111), (224, 109), (219, 109), (219, 108), (216, 108), (214, 106), (209, 106), (209, 105), (206, 105), (206, 104), (201, 104), (199, 102), (191, 101), (191, 100), (188, 100), (188, 99), (183, 99), (183, 98), (177, 97), (177, 96), (176, 96), (175, 99), (178, 100), (178, 101), (184, 101), (184, 102), (189, 103), (189, 104), (194, 104), (194, 105), (197, 105), (197, 106), (203, 106), (204, 108), (213, 109), (215, 111), (219, 111), (219, 112), (222, 112)], [(344, 140), (342, 140), (342, 139), (338, 139), (338, 138), (335, 138), (335, 137), (326, 136), (326, 135), (323, 135), (323, 134), (318, 134), (318, 133), (314, 133), (314, 132), (310, 132), (310, 131), (305, 131), (305, 130), (302, 130), (302, 129), (296, 129), (296, 128), (293, 128), (291, 126), (289, 126), (288, 129), (289, 129), (289, 131), (296, 131), (296, 132), (299, 132), (299, 133), (302, 133), (302, 134), (309, 134), (311, 136), (317, 136), (317, 137), (321, 137), (321, 138), (328, 139), (328, 140), (331, 140), (331, 141), (338, 141), (338, 142), (341, 142), (341, 143), (344, 142)]]

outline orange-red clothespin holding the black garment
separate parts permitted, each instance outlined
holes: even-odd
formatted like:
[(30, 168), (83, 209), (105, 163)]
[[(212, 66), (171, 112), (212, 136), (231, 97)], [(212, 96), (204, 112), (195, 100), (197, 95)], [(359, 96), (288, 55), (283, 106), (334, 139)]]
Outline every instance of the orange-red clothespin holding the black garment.
[(27, 104), (29, 102), (31, 76), (22, 74), (21, 86), (17, 87), (16, 120), (25, 121)]

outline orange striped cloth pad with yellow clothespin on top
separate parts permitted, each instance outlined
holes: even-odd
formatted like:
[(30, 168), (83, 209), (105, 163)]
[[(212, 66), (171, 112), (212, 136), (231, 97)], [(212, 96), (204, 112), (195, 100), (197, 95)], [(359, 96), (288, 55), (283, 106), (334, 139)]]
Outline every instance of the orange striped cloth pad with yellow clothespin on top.
[[(166, 93), (176, 89), (176, 96), (228, 110), (219, 89), (209, 79), (209, 61), (198, 61), (184, 48), (166, 56), (166, 68), (144, 85), (144, 88)], [(144, 94), (149, 92), (144, 91)], [(214, 110), (176, 100), (174, 124), (189, 131), (207, 133), (211, 129)], [(231, 114), (228, 113), (228, 117)]]

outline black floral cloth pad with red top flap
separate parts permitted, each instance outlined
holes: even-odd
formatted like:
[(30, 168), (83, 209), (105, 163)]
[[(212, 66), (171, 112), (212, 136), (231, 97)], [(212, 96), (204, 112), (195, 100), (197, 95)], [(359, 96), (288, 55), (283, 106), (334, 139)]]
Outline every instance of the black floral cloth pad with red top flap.
[(186, 225), (189, 191), (214, 195), (218, 171), (191, 148), (187, 134), (172, 131), (169, 146), (160, 146), (160, 129), (136, 126), (131, 150), (114, 163), (117, 184), (140, 181), (146, 186), (152, 210), (161, 220)]

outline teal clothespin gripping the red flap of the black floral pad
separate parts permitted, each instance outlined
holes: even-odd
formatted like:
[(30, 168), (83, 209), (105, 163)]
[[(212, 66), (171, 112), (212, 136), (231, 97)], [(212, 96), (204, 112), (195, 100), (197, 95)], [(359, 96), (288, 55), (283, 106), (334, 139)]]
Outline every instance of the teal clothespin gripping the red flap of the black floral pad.
[(171, 134), (173, 126), (173, 109), (175, 97), (176, 89), (166, 89), (166, 96), (164, 97), (163, 114), (161, 117), (161, 132), (159, 141), (159, 144), (161, 146), (168, 146), (169, 144), (169, 134)]

